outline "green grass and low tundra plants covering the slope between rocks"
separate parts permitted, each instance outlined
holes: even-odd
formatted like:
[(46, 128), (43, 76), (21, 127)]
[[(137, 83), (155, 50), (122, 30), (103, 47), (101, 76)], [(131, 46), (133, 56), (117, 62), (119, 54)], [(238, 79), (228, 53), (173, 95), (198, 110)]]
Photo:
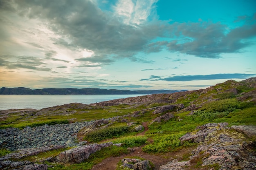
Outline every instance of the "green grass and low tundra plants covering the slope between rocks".
[[(255, 93), (255, 78), (242, 82), (229, 80), (197, 91), (150, 95), (151, 99), (143, 102), (138, 102), (139, 100), (135, 102), (131, 99), (131, 102), (120, 100), (119, 102), (111, 103), (109, 101), (108, 103), (91, 105), (67, 104), (42, 110), (10, 112), (1, 115), (0, 128), (14, 127), (22, 129), (26, 126), (67, 124), (76, 121), (92, 121), (115, 117), (113, 121), (110, 119), (107, 127), (98, 127), (88, 133), (79, 132), (79, 137), (80, 139), (82, 137), (88, 143), (108, 141), (112, 141), (114, 144), (122, 143), (121, 147), (113, 145), (102, 148), (82, 163), (63, 164), (46, 160), (48, 157), (56, 157), (58, 153), (69, 148), (22, 158), (22, 160), (36, 163), (46, 163), (49, 170), (90, 170), (103, 159), (128, 154), (127, 148), (133, 147), (141, 147), (143, 152), (152, 155), (152, 157), (168, 152), (177, 152), (181, 155), (182, 160), (186, 161), (191, 157), (191, 154), (179, 151), (196, 148), (198, 144), (191, 141), (181, 142), (180, 137), (188, 132), (196, 133), (195, 128), (197, 126), (221, 122), (227, 122), (229, 127), (233, 125), (255, 126)], [(149, 95), (147, 97), (149, 98)], [(170, 104), (183, 104), (184, 108), (175, 108), (154, 114), (157, 108)], [(171, 113), (174, 117), (169, 120), (161, 119), (160, 122), (156, 121), (151, 124), (154, 119), (166, 113)], [(128, 126), (129, 123), (132, 124)], [(144, 131), (144, 128), (139, 131), (134, 130), (135, 126), (143, 123), (147, 124), (148, 129), (146, 131)], [(144, 133), (142, 133), (143, 131)], [(255, 137), (247, 140), (256, 142)], [(79, 139), (77, 141), (79, 142)], [(11, 151), (6, 148), (0, 149), (1, 156), (9, 152)], [(202, 167), (201, 160), (203, 157), (207, 157), (207, 155), (201, 153), (198, 157), (193, 157), (191, 168), (205, 169), (206, 166)], [(41, 160), (45, 161), (42, 162)], [(120, 164), (120, 162), (117, 162), (117, 164)], [(117, 167), (118, 170), (127, 169)], [(220, 168), (218, 164), (208, 165), (207, 167)]]

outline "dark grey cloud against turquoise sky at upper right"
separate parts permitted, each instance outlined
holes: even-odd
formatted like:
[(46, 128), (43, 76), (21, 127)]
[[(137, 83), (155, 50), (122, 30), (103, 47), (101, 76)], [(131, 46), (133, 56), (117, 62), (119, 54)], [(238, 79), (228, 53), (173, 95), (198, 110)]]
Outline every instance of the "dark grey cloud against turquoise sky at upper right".
[(231, 29), (226, 25), (211, 22), (175, 23), (171, 25), (177, 37), (167, 44), (169, 51), (205, 58), (220, 58), (222, 53), (239, 53), (254, 44), (250, 38), (256, 36), (256, 24), (245, 24)]

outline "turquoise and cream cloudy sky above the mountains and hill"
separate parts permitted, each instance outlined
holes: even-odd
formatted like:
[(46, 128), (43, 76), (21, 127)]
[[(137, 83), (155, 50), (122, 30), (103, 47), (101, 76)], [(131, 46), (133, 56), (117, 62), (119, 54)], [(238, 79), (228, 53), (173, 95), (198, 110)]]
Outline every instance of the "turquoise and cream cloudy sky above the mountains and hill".
[(249, 77), (255, 0), (0, 0), (0, 87), (196, 90)]

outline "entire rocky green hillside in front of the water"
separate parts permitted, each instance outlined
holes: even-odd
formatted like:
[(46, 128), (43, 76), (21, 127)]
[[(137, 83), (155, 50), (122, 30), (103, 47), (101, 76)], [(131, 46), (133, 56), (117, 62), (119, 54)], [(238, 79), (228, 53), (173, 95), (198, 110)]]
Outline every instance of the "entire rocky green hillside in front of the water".
[(4, 170), (256, 170), (256, 77), (0, 111)]

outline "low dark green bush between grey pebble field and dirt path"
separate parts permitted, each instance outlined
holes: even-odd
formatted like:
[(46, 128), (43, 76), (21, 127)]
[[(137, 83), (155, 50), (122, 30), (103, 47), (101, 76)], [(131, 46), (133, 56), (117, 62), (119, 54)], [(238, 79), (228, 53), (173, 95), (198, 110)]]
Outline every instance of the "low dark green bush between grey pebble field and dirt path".
[(111, 139), (112, 137), (120, 137), (126, 132), (128, 132), (128, 126), (109, 127), (89, 132), (83, 139), (90, 142), (99, 142), (104, 139)]

